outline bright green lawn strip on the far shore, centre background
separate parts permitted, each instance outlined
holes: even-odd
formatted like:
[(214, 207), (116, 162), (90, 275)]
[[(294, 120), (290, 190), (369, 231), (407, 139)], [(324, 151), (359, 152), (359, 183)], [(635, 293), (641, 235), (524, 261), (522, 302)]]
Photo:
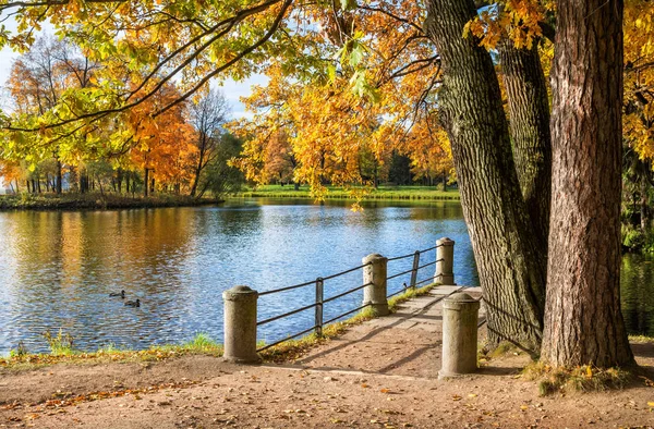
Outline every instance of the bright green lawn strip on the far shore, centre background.
[[(327, 199), (347, 199), (351, 195), (342, 187), (328, 186)], [(294, 191), (293, 185), (266, 185), (235, 194), (237, 197), (267, 198), (313, 198), (308, 186)], [(422, 199), (422, 200), (459, 200), (459, 191), (439, 191), (434, 186), (379, 186), (372, 189), (363, 200), (376, 199)]]

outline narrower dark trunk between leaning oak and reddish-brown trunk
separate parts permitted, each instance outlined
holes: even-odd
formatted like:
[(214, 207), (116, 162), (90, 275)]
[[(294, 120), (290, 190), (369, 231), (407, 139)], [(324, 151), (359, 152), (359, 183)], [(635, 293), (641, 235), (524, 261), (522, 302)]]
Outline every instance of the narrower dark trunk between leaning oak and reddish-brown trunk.
[(537, 44), (517, 49), (505, 39), (499, 45), (502, 79), (509, 100), (509, 130), (518, 181), (538, 248), (547, 252), (552, 197), (552, 136), (549, 100)]

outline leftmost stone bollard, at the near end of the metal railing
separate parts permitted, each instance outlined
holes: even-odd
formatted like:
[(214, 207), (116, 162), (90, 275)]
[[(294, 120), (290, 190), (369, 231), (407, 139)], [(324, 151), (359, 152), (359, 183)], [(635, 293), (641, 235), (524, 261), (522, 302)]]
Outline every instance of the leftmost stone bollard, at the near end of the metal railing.
[(258, 293), (247, 286), (222, 292), (225, 301), (225, 352), (222, 358), (237, 364), (261, 361), (256, 354), (256, 301)]

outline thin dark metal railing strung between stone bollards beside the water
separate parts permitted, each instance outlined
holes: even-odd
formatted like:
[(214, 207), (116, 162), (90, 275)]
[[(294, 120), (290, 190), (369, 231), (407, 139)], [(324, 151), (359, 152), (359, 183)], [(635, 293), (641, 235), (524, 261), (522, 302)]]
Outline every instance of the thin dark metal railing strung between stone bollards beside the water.
[[(391, 262), (391, 261), (397, 261), (397, 260), (402, 260), (402, 259), (407, 259), (407, 258), (413, 257), (413, 263), (412, 263), (412, 268), (410, 270), (405, 270), (405, 271), (402, 271), (402, 272), (399, 272), (399, 273), (396, 273), (393, 275), (389, 275), (389, 277), (386, 278), (386, 281), (388, 282), (388, 280), (392, 280), (392, 279), (399, 278), (401, 275), (405, 275), (405, 274), (411, 273), (410, 285), (407, 286), (407, 287), (404, 287), (404, 289), (400, 289), (398, 292), (395, 292), (395, 293), (388, 295), (388, 297), (398, 295), (400, 293), (403, 293), (409, 287), (415, 287), (416, 285), (426, 283), (427, 281), (432, 281), (432, 282), (434, 281), (434, 275), (431, 275), (427, 279), (417, 281), (417, 273), (419, 273), (419, 271), (421, 269), (429, 267), (429, 266), (433, 266), (433, 265), (436, 265), (437, 262), (439, 262), (439, 261), (443, 260), (443, 259), (437, 259), (437, 260), (434, 260), (432, 262), (424, 263), (422, 266), (420, 265), (421, 255), (424, 255), (424, 254), (426, 254), (428, 252), (432, 252), (432, 250), (436, 249), (437, 247), (439, 247), (439, 246), (434, 246), (434, 247), (429, 247), (429, 248), (426, 248), (426, 249), (423, 249), (423, 250), (416, 250), (416, 252), (414, 252), (412, 254), (409, 254), (409, 255), (402, 255), (402, 256), (398, 256), (398, 257), (386, 259), (387, 262)], [(299, 283), (299, 284), (294, 284), (294, 285), (291, 285), (291, 286), (279, 287), (279, 289), (271, 290), (271, 291), (261, 292), (258, 294), (259, 297), (261, 296), (266, 296), (266, 295), (271, 295), (271, 294), (278, 294), (278, 293), (282, 293), (282, 292), (288, 292), (288, 291), (293, 291), (293, 290), (299, 290), (299, 289), (302, 289), (302, 287), (307, 287), (307, 286), (314, 285), (314, 287), (315, 287), (315, 301), (314, 301), (314, 303), (305, 305), (305, 306), (302, 306), (302, 307), (299, 307), (299, 308), (295, 308), (295, 309), (287, 311), (287, 312), (283, 312), (281, 315), (272, 316), (272, 317), (269, 317), (267, 319), (257, 321), (256, 326), (258, 328), (258, 327), (268, 324), (270, 322), (274, 322), (274, 321), (277, 321), (277, 320), (290, 317), (290, 316), (294, 316), (294, 315), (303, 312), (303, 311), (311, 310), (312, 308), (314, 309), (314, 324), (311, 328), (304, 329), (304, 330), (302, 330), (300, 332), (295, 332), (293, 334), (289, 334), (289, 335), (287, 335), (286, 338), (283, 338), (281, 340), (278, 340), (278, 341), (276, 341), (274, 343), (266, 344), (266, 345), (264, 345), (262, 347), (258, 347), (257, 352), (265, 351), (266, 348), (272, 347), (272, 346), (278, 345), (280, 343), (283, 343), (286, 341), (289, 341), (289, 340), (295, 339), (298, 336), (304, 335), (304, 334), (310, 333), (312, 331), (316, 335), (322, 336), (323, 335), (323, 328), (326, 324), (331, 323), (334, 321), (337, 321), (337, 320), (343, 318), (344, 316), (348, 316), (348, 315), (351, 315), (353, 312), (363, 310), (364, 308), (371, 306), (372, 303), (365, 303), (365, 304), (363, 304), (360, 307), (347, 310), (344, 312), (341, 312), (338, 316), (330, 317), (328, 320), (324, 319), (325, 304), (334, 302), (334, 301), (339, 299), (339, 298), (342, 298), (344, 296), (348, 296), (348, 295), (350, 295), (350, 294), (352, 294), (354, 292), (361, 291), (361, 290), (363, 290), (363, 289), (365, 289), (367, 286), (371, 286), (373, 284), (373, 283), (362, 284), (362, 285), (359, 285), (356, 287), (350, 289), (350, 290), (344, 291), (344, 292), (340, 292), (340, 293), (338, 293), (336, 295), (332, 295), (332, 296), (329, 296), (329, 297), (325, 298), (325, 281), (332, 280), (332, 279), (339, 278), (341, 275), (349, 274), (349, 273), (358, 271), (358, 270), (362, 270), (365, 267), (368, 267), (371, 265), (372, 265), (372, 262), (367, 262), (367, 263), (361, 265), (359, 267), (350, 268), (348, 270), (338, 272), (336, 274), (331, 274), (331, 275), (327, 275), (327, 277), (318, 277), (316, 280), (313, 280), (313, 281), (308, 281), (308, 282), (304, 282), (304, 283)], [(404, 285), (405, 285), (405, 283), (404, 283)]]

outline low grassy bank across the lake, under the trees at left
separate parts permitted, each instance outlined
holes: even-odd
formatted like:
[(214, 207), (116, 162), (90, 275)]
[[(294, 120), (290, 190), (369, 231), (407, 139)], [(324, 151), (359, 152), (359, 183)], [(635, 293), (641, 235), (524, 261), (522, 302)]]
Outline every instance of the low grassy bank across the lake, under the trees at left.
[(0, 210), (105, 210), (155, 207), (203, 206), (220, 203), (219, 199), (196, 199), (181, 195), (159, 194), (153, 197), (116, 194), (41, 194), (2, 195)]

